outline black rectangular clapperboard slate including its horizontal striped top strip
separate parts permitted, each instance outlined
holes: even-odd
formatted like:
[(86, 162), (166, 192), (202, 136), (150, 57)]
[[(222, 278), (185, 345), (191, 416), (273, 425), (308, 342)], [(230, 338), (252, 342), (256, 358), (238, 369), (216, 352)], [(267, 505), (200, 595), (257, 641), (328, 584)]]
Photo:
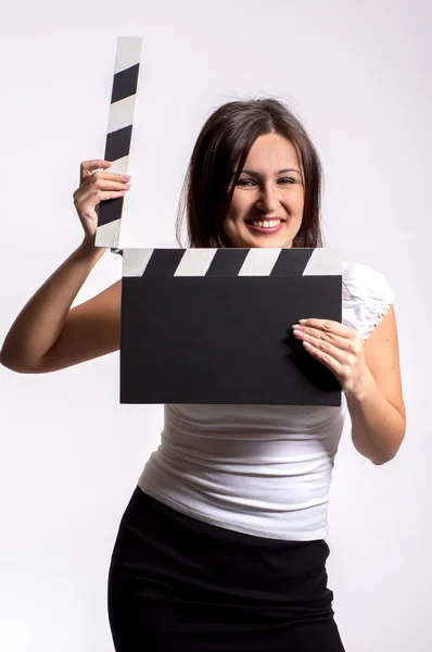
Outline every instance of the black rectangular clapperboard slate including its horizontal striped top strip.
[(340, 405), (292, 335), (342, 321), (339, 249), (125, 249), (120, 402)]

